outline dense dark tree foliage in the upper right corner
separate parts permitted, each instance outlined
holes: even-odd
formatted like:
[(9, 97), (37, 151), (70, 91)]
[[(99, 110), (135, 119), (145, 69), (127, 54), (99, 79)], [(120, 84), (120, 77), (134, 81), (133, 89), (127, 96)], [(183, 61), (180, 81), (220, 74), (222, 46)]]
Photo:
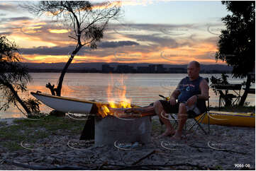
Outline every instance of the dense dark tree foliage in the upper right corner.
[(232, 15), (222, 18), (216, 59), (233, 66), (233, 76), (244, 78), (255, 67), (255, 1), (222, 1)]

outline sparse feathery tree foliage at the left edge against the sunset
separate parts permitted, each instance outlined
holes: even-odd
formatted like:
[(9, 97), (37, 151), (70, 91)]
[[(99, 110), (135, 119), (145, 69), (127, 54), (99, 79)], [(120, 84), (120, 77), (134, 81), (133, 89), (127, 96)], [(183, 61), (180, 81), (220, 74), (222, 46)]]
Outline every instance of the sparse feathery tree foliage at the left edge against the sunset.
[(10, 104), (17, 105), (17, 102), (28, 107), (26, 112), (38, 112), (39, 103), (37, 100), (28, 99), (22, 101), (18, 97), (18, 92), (27, 91), (27, 83), (32, 79), (28, 74), (26, 67), (21, 66), (21, 55), (18, 52), (16, 44), (10, 42), (6, 37), (0, 37), (0, 91), (4, 97), (4, 104), (1, 104), (0, 110), (7, 110)]

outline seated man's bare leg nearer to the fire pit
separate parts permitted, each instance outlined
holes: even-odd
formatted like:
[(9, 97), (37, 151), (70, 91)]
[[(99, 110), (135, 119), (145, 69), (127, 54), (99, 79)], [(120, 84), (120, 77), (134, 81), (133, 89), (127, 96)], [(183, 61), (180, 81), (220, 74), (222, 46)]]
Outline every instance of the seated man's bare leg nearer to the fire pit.
[(158, 115), (158, 117), (161, 119), (161, 121), (165, 124), (166, 130), (161, 136), (169, 136), (175, 133), (175, 129), (172, 127), (171, 122), (169, 122), (169, 119), (165, 119), (162, 117), (162, 115), (165, 116), (166, 112), (164, 108), (162, 107), (162, 104), (159, 100), (154, 102), (154, 109), (155, 109), (155, 114)]

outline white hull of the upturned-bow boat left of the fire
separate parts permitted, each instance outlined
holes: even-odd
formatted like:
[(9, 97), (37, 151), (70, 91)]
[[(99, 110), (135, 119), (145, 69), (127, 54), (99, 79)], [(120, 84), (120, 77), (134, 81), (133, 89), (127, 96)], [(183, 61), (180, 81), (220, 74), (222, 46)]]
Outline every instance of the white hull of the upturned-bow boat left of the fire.
[(63, 98), (43, 93), (31, 93), (35, 98), (54, 110), (65, 113), (89, 114), (94, 102), (78, 100), (74, 98)]

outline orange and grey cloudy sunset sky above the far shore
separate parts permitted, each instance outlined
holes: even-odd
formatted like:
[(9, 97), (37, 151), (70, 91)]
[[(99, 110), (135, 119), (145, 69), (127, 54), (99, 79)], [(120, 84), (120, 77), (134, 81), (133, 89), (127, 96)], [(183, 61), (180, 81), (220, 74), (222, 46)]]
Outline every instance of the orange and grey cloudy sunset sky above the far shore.
[[(76, 45), (69, 30), (51, 16), (33, 16), (22, 3), (0, 1), (0, 34), (16, 42), (23, 62), (66, 62)], [(228, 14), (221, 1), (121, 1), (121, 9), (99, 47), (80, 50), (73, 62), (216, 64), (221, 18)]]

